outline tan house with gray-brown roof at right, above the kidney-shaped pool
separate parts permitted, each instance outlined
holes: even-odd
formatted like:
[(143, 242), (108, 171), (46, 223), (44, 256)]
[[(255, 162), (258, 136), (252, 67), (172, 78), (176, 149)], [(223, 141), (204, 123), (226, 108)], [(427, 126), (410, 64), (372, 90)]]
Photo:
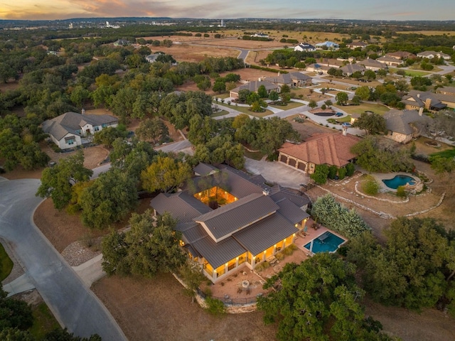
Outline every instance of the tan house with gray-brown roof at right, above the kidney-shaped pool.
[(384, 114), (385, 124), (388, 130), (385, 137), (401, 144), (407, 144), (413, 138), (420, 136), (420, 124), (431, 118), (419, 114), (416, 110), (397, 110), (391, 109)]

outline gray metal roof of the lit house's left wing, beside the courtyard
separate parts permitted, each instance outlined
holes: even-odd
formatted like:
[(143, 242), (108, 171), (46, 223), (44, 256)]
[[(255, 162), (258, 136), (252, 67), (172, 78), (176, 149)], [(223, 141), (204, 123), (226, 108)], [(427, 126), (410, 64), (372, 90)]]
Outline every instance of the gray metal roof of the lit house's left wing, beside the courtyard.
[(178, 222), (191, 222), (204, 213), (210, 212), (212, 209), (203, 202), (200, 202), (191, 195), (184, 192), (173, 194), (160, 193), (150, 201), (151, 207), (154, 207), (159, 215), (164, 212), (171, 213), (172, 217)]

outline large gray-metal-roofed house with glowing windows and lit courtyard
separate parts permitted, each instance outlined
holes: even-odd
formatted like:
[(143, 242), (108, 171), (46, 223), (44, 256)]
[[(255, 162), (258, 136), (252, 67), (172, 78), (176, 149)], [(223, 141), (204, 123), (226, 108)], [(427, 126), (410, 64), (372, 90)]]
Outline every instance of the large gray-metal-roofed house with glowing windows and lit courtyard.
[[(213, 202), (223, 205), (212, 209)], [(264, 185), (260, 175), (252, 178), (221, 165), (190, 180), (181, 192), (159, 194), (150, 205), (155, 215), (168, 212), (177, 220), (181, 246), (216, 283), (239, 268), (255, 269), (293, 244), (309, 218), (309, 202), (306, 195)]]

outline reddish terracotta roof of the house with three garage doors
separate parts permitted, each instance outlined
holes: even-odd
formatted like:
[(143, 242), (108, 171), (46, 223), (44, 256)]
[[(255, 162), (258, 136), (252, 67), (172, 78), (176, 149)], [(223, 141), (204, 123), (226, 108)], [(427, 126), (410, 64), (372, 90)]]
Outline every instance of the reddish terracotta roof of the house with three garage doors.
[(350, 134), (316, 134), (302, 144), (285, 143), (279, 151), (316, 165), (342, 167), (355, 158), (350, 148), (358, 141), (357, 136)]

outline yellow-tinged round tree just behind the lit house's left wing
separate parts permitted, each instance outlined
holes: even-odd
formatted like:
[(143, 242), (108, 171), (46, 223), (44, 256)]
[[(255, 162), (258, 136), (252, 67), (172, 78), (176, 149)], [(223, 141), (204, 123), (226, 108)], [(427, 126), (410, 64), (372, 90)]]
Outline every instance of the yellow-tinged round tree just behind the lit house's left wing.
[(169, 156), (158, 156), (146, 170), (141, 173), (142, 186), (149, 192), (162, 190), (170, 192), (191, 178), (191, 167), (188, 163), (176, 161)]

